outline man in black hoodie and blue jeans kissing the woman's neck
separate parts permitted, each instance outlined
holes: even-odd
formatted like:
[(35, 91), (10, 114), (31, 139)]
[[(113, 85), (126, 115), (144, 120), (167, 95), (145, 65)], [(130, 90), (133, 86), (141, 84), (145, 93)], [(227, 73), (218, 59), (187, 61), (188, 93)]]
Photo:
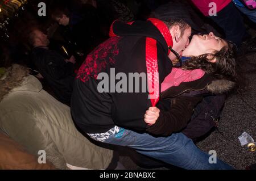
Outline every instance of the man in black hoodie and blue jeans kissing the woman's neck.
[[(171, 165), (184, 169), (232, 169), (220, 160), (210, 164), (209, 155), (182, 133), (168, 137), (146, 133), (144, 113), (158, 103), (160, 83), (170, 73), (175, 57), (170, 49), (181, 54), (189, 43), (191, 28), (181, 22), (154, 18), (131, 23), (115, 21), (110, 39), (94, 49), (79, 69), (71, 100), (73, 120), (94, 140), (129, 146)], [(126, 85), (125, 77), (131, 73), (137, 73), (142, 82), (131, 83), (129, 79)], [(115, 85), (115, 79), (121, 81)]]

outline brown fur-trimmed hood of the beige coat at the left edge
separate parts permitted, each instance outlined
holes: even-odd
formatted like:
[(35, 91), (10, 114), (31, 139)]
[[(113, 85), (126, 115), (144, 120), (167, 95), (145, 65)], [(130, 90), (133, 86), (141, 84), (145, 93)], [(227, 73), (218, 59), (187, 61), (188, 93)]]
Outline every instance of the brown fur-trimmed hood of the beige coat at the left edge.
[(28, 68), (14, 64), (0, 78), (0, 101), (10, 92), (23, 90), (40, 91), (42, 85), (38, 79), (29, 75)]

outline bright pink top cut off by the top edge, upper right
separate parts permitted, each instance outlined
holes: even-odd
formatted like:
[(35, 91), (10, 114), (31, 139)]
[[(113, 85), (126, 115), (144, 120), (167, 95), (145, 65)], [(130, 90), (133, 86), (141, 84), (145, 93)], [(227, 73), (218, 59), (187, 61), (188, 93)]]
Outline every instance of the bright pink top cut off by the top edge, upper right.
[(228, 5), (232, 0), (191, 0), (195, 6), (205, 15), (209, 16), (209, 10), (212, 9), (213, 6), (209, 7), (209, 3), (216, 3), (217, 12), (221, 11)]

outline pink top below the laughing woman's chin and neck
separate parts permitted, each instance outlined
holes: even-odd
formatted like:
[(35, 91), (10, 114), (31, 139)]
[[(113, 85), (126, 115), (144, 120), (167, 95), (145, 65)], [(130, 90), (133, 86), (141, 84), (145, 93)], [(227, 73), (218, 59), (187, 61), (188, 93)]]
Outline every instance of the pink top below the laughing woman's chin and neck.
[(196, 81), (202, 78), (204, 74), (205, 71), (201, 69), (182, 70), (180, 68), (172, 68), (172, 72), (161, 83), (161, 92), (172, 86), (179, 86), (181, 82)]

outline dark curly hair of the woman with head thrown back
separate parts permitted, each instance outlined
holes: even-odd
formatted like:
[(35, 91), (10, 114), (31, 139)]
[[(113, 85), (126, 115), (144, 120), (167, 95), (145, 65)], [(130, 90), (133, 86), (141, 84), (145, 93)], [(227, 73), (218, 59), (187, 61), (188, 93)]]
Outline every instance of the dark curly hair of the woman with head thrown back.
[[(228, 79), (237, 81), (237, 65), (236, 65), (236, 45), (227, 41), (228, 45), (221, 48), (220, 51), (214, 53), (202, 54), (192, 57), (191, 60), (185, 62), (181, 68), (183, 70), (202, 69), (206, 73), (218, 79)], [(210, 62), (216, 58), (216, 62)]]

